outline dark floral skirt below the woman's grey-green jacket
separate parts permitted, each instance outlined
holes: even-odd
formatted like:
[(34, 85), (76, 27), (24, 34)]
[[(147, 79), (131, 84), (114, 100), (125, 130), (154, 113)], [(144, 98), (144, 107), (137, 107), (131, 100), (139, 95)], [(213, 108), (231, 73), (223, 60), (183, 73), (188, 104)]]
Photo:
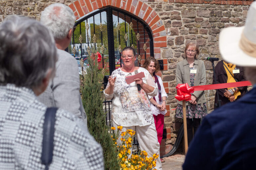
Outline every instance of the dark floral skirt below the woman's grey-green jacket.
[[(198, 105), (190, 105), (186, 107), (186, 115), (187, 118), (202, 118), (207, 115), (207, 106), (206, 103), (203, 103), (203, 107), (201, 104)], [(183, 109), (182, 105), (178, 104), (176, 109), (176, 117), (183, 118)]]

